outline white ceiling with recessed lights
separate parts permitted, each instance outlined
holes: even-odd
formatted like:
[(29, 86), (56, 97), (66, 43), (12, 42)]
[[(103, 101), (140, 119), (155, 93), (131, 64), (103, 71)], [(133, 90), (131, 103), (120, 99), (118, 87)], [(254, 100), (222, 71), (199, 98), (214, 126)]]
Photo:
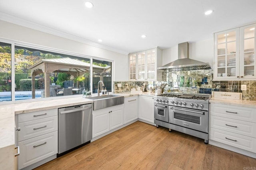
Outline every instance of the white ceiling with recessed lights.
[(256, 0), (89, 0), (91, 9), (86, 1), (0, 0), (0, 20), (125, 54), (256, 22)]

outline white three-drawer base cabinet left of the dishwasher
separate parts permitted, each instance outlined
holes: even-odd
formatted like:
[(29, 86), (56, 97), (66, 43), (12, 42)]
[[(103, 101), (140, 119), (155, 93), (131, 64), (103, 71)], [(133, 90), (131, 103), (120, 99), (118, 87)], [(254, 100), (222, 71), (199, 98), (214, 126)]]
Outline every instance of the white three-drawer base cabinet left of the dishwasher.
[[(56, 158), (58, 153), (58, 109), (17, 115), (18, 169), (35, 168)], [(55, 156), (54, 156), (55, 155)], [(42, 162), (38, 164), (38, 162)], [(28, 168), (28, 169), (30, 169)]]

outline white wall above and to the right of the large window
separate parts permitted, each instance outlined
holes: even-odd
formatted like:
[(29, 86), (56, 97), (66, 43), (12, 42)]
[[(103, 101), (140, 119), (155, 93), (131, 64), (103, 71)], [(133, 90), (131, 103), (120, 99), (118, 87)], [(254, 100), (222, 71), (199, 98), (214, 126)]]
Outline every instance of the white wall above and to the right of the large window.
[(15, 40), (114, 61), (114, 81), (128, 80), (128, 55), (93, 47), (0, 20), (0, 38)]

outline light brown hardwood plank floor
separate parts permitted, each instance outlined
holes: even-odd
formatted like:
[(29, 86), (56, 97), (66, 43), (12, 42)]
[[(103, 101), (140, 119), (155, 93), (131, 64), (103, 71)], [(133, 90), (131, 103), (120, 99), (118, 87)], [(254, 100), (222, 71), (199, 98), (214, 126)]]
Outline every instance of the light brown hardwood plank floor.
[[(245, 167), (245, 168), (244, 168)], [(247, 167), (247, 169), (246, 169)], [(255, 170), (256, 159), (137, 121), (36, 170)]]

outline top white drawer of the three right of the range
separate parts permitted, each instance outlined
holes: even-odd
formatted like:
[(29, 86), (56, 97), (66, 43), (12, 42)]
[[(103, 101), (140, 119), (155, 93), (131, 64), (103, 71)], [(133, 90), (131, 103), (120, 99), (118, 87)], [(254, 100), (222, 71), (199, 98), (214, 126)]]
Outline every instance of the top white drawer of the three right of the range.
[(256, 109), (211, 103), (211, 115), (256, 123)]

